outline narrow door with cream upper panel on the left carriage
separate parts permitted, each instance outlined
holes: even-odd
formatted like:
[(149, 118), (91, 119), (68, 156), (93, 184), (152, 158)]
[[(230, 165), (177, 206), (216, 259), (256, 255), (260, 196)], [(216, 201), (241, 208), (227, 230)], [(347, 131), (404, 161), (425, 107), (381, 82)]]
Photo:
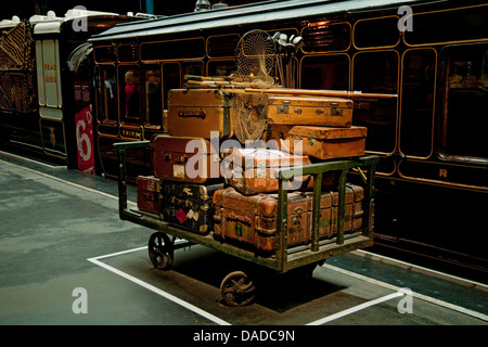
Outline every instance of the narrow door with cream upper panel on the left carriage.
[[(39, 26), (41, 24), (36, 26), (35, 34)], [(66, 158), (60, 43), (56, 38), (36, 39), (36, 65), (42, 147), (47, 154)]]

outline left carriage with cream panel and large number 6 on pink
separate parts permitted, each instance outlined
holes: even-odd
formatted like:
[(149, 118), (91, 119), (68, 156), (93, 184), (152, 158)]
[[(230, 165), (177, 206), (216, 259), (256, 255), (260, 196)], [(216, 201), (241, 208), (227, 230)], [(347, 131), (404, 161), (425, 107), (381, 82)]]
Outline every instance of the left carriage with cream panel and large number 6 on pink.
[(134, 16), (68, 10), (0, 22), (2, 143), (94, 171), (91, 35)]

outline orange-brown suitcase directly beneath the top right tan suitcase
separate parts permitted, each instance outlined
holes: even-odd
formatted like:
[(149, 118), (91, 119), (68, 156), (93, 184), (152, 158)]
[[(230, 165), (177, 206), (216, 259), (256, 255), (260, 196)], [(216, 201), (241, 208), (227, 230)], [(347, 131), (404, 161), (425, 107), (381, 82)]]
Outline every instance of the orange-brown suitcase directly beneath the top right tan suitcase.
[(296, 141), (301, 141), (301, 155), (319, 159), (332, 159), (364, 155), (368, 128), (333, 128), (295, 126), (288, 131), (291, 151), (294, 153)]

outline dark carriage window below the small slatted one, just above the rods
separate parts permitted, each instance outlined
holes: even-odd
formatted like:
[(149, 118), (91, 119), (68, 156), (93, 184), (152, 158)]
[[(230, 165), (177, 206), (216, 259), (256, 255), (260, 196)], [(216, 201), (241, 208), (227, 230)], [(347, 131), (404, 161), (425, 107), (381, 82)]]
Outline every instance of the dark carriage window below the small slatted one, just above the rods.
[(301, 61), (301, 88), (349, 89), (349, 56), (316, 55)]

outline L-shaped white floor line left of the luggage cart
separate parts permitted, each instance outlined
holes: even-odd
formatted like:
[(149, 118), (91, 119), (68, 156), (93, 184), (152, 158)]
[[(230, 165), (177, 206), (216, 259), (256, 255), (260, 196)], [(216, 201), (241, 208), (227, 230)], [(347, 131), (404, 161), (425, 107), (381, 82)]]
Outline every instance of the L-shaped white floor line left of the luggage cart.
[(141, 281), (138, 278), (134, 278), (133, 275), (130, 275), (130, 274), (128, 274), (128, 273), (126, 273), (124, 271), (120, 271), (120, 270), (118, 270), (118, 269), (116, 269), (114, 267), (111, 267), (111, 266), (108, 266), (108, 265), (106, 265), (106, 264), (104, 264), (104, 262), (99, 260), (99, 259), (102, 259), (102, 258), (108, 258), (108, 257), (113, 257), (113, 256), (117, 256), (117, 255), (121, 255), (121, 254), (127, 254), (127, 253), (131, 253), (131, 252), (136, 252), (136, 250), (141, 250), (141, 249), (144, 249), (144, 248), (146, 248), (146, 247), (139, 247), (139, 248), (117, 252), (117, 253), (113, 253), (113, 254), (110, 254), (110, 255), (104, 255), (104, 256), (99, 256), (99, 257), (94, 257), (94, 258), (89, 258), (87, 260), (90, 261), (90, 262), (93, 262), (94, 265), (97, 265), (97, 266), (99, 266), (101, 268), (104, 268), (105, 270), (108, 270), (108, 271), (111, 271), (111, 272), (113, 272), (115, 274), (118, 274), (119, 277), (121, 277), (121, 278), (124, 278), (126, 280), (129, 280), (129, 281), (131, 281), (131, 282), (133, 282), (136, 284), (139, 284), (140, 286), (142, 286), (142, 287), (144, 287), (144, 288), (146, 288), (146, 290), (149, 290), (149, 291), (151, 291), (151, 292), (153, 292), (153, 293), (155, 293), (157, 295), (160, 295), (164, 298), (166, 298), (166, 299), (168, 299), (168, 300), (170, 300), (170, 301), (172, 301), (175, 304), (178, 304), (178, 305), (184, 307), (185, 309), (188, 309), (190, 311), (193, 311), (196, 314), (200, 314), (200, 316), (210, 320), (214, 323), (217, 323), (219, 325), (231, 325), (229, 322), (227, 322), (227, 321), (224, 321), (224, 320), (222, 320), (222, 319), (220, 319), (220, 318), (218, 318), (218, 317), (216, 317), (216, 316), (214, 316), (214, 314), (211, 314), (211, 313), (209, 313), (209, 312), (207, 312), (207, 311), (205, 311), (205, 310), (203, 310), (203, 309), (201, 309), (201, 308), (198, 308), (198, 307), (196, 307), (196, 306), (194, 306), (194, 305), (192, 305), (190, 303), (187, 303), (187, 301), (176, 297), (175, 295), (171, 295), (171, 294), (169, 294), (169, 293), (167, 293), (167, 292), (165, 292), (163, 290), (159, 290), (158, 287), (155, 287), (154, 285), (151, 285), (151, 284), (149, 284), (149, 283), (146, 283), (144, 281)]

